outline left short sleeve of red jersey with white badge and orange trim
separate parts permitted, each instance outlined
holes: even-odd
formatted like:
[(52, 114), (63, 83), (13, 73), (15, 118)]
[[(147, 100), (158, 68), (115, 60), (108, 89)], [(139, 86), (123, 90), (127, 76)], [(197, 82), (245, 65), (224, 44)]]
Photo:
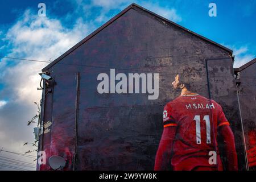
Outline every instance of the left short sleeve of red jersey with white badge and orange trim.
[(163, 111), (163, 127), (177, 126), (174, 119), (174, 109), (170, 105), (164, 106)]

